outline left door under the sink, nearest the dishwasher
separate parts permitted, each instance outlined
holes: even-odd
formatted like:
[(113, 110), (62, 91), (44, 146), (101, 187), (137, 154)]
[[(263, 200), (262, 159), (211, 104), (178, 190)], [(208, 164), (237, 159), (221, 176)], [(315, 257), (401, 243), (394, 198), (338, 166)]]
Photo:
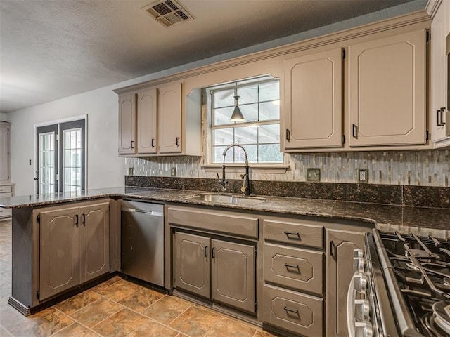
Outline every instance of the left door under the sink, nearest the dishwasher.
[(175, 233), (175, 287), (210, 298), (210, 239)]

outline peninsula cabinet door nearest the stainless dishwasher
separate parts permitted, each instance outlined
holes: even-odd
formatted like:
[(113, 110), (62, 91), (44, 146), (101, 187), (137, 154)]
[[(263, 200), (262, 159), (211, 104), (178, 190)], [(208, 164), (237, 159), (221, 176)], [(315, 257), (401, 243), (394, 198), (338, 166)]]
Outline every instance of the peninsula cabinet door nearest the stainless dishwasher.
[(80, 283), (110, 270), (109, 202), (79, 208)]

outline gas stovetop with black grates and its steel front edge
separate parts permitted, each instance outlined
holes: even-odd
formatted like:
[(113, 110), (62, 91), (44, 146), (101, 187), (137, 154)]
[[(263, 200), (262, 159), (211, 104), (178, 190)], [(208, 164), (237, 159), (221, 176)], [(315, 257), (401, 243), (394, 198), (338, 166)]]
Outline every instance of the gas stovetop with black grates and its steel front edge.
[(378, 230), (374, 239), (400, 330), (450, 336), (450, 242)]

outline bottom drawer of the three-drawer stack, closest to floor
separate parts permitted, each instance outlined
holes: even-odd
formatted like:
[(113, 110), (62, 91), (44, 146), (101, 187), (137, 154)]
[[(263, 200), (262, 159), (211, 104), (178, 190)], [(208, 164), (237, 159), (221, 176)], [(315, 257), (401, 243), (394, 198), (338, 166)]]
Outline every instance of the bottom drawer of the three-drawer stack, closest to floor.
[(323, 336), (323, 299), (264, 284), (264, 322), (302, 336)]

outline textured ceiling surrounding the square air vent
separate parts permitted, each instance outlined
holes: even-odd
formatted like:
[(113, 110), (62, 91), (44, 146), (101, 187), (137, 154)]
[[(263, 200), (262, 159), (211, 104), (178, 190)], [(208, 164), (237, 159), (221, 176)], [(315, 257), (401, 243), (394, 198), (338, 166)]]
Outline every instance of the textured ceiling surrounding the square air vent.
[(166, 28), (140, 0), (0, 0), (0, 112), (64, 98), (409, 0), (180, 0)]

